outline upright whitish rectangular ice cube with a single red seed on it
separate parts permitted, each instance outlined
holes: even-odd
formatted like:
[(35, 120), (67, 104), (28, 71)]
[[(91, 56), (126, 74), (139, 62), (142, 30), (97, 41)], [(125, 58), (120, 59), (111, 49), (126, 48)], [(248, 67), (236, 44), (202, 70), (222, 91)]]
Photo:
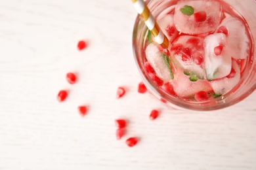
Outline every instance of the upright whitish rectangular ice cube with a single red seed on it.
[(230, 50), (226, 47), (226, 35), (214, 33), (204, 39), (205, 73), (208, 80), (227, 76), (231, 70)]

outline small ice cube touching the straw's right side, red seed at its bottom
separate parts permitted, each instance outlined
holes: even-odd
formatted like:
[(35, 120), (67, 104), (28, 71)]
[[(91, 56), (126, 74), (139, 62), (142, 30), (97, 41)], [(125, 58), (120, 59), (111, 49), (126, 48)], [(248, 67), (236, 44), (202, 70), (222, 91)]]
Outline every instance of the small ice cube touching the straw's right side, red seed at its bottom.
[(174, 25), (173, 17), (173, 14), (167, 14), (158, 20), (158, 25), (170, 42), (173, 42), (179, 33)]

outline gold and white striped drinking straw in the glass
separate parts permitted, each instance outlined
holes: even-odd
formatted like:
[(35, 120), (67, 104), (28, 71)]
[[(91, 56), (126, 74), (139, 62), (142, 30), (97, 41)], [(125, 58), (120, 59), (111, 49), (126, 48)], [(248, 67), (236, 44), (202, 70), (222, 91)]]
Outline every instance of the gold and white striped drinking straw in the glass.
[(133, 1), (133, 5), (135, 9), (140, 14), (140, 16), (142, 16), (146, 26), (148, 27), (148, 29), (150, 29), (150, 31), (154, 35), (156, 42), (158, 42), (158, 44), (161, 44), (163, 48), (168, 48), (169, 41), (167, 37), (161, 31), (158, 23), (156, 22), (154, 16), (152, 16), (150, 10), (148, 9), (144, 1), (143, 0), (131, 0), (131, 1)]

